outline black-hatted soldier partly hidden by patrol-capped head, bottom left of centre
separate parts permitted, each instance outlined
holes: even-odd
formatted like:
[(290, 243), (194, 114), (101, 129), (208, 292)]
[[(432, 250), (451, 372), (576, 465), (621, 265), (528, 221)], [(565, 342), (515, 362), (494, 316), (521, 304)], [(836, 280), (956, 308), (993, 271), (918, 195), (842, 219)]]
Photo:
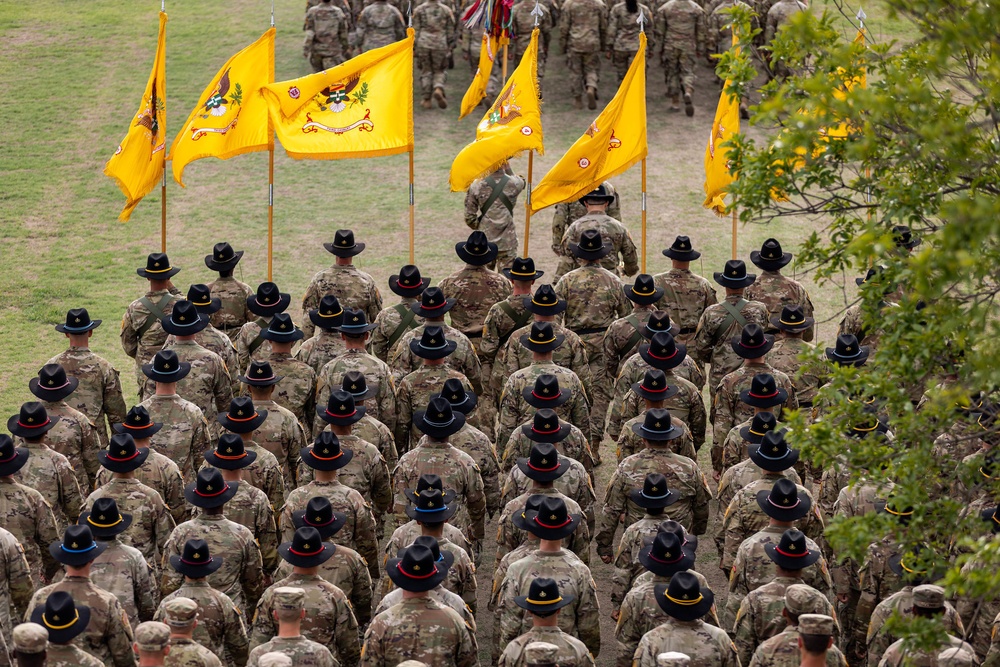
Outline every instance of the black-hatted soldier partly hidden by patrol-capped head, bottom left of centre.
[(319, 531), (305, 527), (295, 531), (291, 542), (279, 547), (282, 559), (291, 563), (293, 573), (276, 581), (261, 596), (253, 618), (250, 644), (260, 646), (278, 634), (274, 619), (276, 593), (282, 588), (301, 588), (304, 593), (305, 616), (302, 635), (330, 650), (341, 664), (357, 664), (361, 647), (358, 645), (358, 622), (351, 604), (342, 590), (322, 579), (318, 572), (322, 563), (333, 557), (336, 547), (323, 542)]

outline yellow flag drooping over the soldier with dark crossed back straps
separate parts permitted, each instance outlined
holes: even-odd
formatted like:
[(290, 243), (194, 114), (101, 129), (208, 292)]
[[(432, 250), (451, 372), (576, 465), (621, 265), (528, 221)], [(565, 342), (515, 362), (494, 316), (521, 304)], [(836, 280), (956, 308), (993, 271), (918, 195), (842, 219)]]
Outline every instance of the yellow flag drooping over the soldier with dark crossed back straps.
[(479, 121), (476, 140), (451, 163), (452, 192), (468, 189), (480, 176), (527, 150), (545, 152), (538, 102), (538, 28), (532, 31), (517, 69)]

